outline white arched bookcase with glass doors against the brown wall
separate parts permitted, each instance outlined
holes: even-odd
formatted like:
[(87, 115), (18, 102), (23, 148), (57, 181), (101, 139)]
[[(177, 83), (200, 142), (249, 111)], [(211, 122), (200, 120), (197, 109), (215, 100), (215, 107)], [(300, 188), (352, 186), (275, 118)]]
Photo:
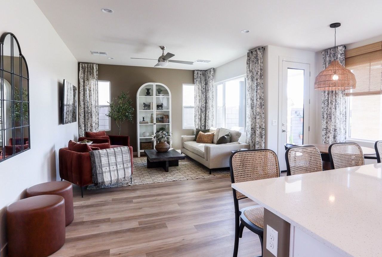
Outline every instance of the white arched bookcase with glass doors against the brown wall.
[[(150, 89), (150, 95), (147, 95)], [(137, 155), (141, 156), (144, 147), (141, 142), (152, 142), (156, 131), (171, 132), (171, 92), (162, 83), (150, 82), (139, 87), (137, 92)], [(146, 123), (142, 123), (144, 120)], [(147, 147), (147, 145), (146, 145)], [(153, 142), (151, 149), (154, 149)], [(170, 142), (171, 147), (171, 142)], [(145, 148), (146, 149), (146, 148)]]

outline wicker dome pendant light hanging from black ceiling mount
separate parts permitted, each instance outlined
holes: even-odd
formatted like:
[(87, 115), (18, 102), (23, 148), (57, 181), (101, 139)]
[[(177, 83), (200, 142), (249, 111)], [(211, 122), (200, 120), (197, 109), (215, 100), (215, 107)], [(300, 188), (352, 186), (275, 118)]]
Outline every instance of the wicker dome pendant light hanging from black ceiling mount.
[(343, 67), (337, 60), (335, 45), (335, 29), (341, 26), (341, 23), (332, 23), (330, 27), (334, 28), (334, 55), (335, 60), (329, 66), (321, 71), (314, 81), (314, 89), (317, 90), (346, 90), (356, 88), (356, 77), (354, 74)]

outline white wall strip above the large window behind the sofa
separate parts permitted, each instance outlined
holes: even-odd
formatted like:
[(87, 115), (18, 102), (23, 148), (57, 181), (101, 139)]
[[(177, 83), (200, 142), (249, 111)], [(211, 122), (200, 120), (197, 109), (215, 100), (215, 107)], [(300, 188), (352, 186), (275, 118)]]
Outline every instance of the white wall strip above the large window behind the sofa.
[(229, 63), (223, 64), (222, 66), (215, 68), (215, 82), (220, 82), (245, 75), (247, 73), (246, 63), (247, 55), (244, 55), (242, 57), (237, 58), (236, 60), (230, 61)]

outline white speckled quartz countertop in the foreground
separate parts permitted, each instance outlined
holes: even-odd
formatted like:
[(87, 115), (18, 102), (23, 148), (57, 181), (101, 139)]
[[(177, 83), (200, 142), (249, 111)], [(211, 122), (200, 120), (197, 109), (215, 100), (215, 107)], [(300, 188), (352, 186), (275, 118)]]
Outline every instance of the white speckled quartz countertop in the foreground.
[(382, 163), (232, 187), (344, 256), (382, 256)]

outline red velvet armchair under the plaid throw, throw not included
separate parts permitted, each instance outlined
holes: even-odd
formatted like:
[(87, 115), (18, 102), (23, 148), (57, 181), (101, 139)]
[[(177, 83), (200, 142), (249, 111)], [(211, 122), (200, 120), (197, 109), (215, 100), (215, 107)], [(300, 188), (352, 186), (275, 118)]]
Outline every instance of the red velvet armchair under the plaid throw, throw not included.
[[(133, 147), (129, 146), (129, 150), (131, 175), (133, 175)], [(66, 181), (80, 186), (81, 196), (83, 197), (83, 187), (93, 184), (90, 154), (88, 152), (74, 152), (69, 150), (68, 147), (65, 147), (58, 151), (58, 162), (61, 180), (65, 179)]]

